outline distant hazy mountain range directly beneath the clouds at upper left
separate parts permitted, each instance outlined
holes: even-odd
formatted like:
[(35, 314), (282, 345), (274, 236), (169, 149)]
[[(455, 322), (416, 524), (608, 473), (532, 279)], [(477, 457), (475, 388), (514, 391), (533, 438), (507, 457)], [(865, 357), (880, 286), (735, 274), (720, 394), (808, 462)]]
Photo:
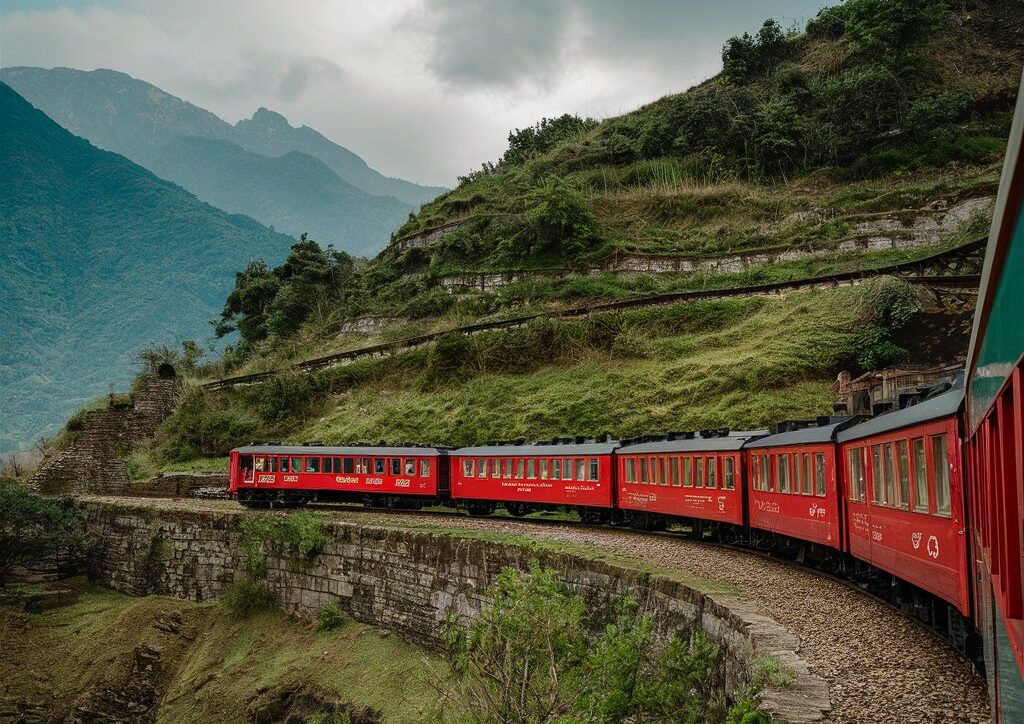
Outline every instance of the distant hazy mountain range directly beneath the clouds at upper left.
[(445, 189), (386, 177), (312, 128), (259, 109), (234, 125), (109, 70), (6, 68), (0, 80), (72, 133), (226, 211), (357, 255)]

